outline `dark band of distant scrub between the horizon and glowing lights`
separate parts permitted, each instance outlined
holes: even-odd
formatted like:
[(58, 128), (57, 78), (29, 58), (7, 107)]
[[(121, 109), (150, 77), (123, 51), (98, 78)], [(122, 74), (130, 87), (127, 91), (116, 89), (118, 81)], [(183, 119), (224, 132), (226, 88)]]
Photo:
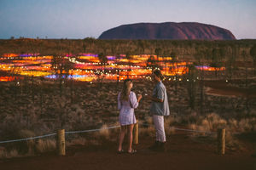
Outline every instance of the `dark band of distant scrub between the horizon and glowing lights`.
[(175, 53), (180, 59), (195, 59), (195, 55), (200, 53), (211, 57), (213, 50), (215, 52), (219, 50), (224, 55), (234, 53), (234, 49), (236, 49), (238, 56), (242, 53), (250, 54), (249, 51), (253, 46), (256, 46), (256, 40), (99, 40), (91, 37), (84, 39), (20, 38), (0, 40), (0, 54), (39, 53), (52, 55), (93, 53), (105, 55), (157, 54), (170, 56)]

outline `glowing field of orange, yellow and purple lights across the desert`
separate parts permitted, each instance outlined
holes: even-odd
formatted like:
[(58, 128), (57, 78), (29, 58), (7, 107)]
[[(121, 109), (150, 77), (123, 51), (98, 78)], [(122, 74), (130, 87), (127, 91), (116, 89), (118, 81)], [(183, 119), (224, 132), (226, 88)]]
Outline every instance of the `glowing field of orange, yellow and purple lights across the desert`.
[[(171, 57), (156, 55), (106, 56), (102, 63), (97, 54), (66, 54), (62, 57), (40, 56), (40, 54), (3, 54), (0, 57), (0, 82), (10, 82), (23, 77), (44, 77), (57, 79), (66, 77), (81, 82), (97, 80), (116, 81), (127, 77), (131, 79), (151, 79), (153, 68), (159, 68), (169, 80), (173, 76), (188, 71), (186, 62), (172, 62)], [(57, 61), (56, 61), (57, 60)], [(68, 65), (68, 66), (67, 66)], [(197, 69), (216, 71), (209, 66), (197, 66)], [(224, 70), (219, 68), (218, 70)]]

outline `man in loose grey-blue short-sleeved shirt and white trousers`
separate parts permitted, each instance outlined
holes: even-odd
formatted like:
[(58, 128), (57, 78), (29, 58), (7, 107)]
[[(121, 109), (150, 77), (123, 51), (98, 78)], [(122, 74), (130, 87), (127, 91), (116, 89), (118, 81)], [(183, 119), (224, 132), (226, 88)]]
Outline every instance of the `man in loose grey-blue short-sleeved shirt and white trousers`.
[(159, 70), (155, 70), (152, 74), (155, 82), (153, 95), (148, 96), (148, 99), (152, 101), (150, 106), (150, 114), (153, 116), (153, 122), (155, 127), (156, 140), (151, 150), (165, 150), (166, 133), (164, 127), (164, 116), (169, 116), (169, 104), (167, 99), (166, 87), (161, 82), (163, 76)]

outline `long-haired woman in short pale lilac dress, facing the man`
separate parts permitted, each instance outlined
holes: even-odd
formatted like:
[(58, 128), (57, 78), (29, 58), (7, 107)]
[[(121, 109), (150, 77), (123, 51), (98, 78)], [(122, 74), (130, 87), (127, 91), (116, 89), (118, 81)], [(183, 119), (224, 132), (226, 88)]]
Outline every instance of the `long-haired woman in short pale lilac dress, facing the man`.
[(136, 153), (137, 150), (131, 148), (132, 145), (132, 130), (134, 124), (136, 123), (136, 118), (134, 115), (134, 109), (137, 108), (139, 101), (142, 99), (142, 95), (138, 95), (134, 92), (131, 92), (133, 84), (131, 79), (125, 79), (124, 87), (118, 95), (118, 109), (119, 113), (119, 123), (121, 125), (121, 131), (119, 134), (119, 149), (118, 153), (123, 153), (122, 144), (125, 138), (125, 130), (128, 128), (128, 150), (130, 154)]

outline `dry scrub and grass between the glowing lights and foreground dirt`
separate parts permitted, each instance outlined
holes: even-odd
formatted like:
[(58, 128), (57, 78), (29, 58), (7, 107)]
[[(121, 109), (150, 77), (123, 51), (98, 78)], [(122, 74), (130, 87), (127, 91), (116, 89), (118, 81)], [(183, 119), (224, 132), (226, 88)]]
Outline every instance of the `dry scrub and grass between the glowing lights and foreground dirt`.
[[(20, 86), (23, 86), (22, 83)], [(149, 86), (151, 83), (150, 81), (135, 82), (134, 91), (137, 94), (142, 92), (150, 94), (153, 87), (153, 85)], [(172, 133), (172, 127), (185, 127), (207, 132), (216, 132), (218, 127), (225, 127), (231, 136), (256, 130), (255, 98), (215, 96), (207, 94), (205, 89), (204, 102), (201, 105), (200, 90), (196, 90), (192, 108), (188, 95), (188, 82), (178, 82), (177, 89), (173, 86), (173, 82), (164, 83), (166, 83), (172, 113), (166, 118), (166, 133)], [(32, 82), (28, 82), (28, 85), (31, 86)], [(25, 88), (21, 93), (21, 87), (16, 84), (13, 86), (7, 83), (2, 84), (1, 140), (55, 133), (58, 128), (73, 131), (118, 124), (119, 111), (116, 98), (121, 85), (117, 86), (115, 82), (102, 83), (101, 88), (99, 84), (79, 84), (78, 82), (73, 84), (72, 99), (69, 86), (64, 85), (62, 95), (59, 95), (59, 91), (56, 90), (58, 82), (38, 79), (33, 82), (33, 85), (39, 90), (34, 89), (32, 92), (32, 88)], [(153, 137), (154, 128), (148, 113), (148, 106), (149, 102), (143, 100), (136, 115), (140, 122), (146, 124), (140, 127), (140, 135)], [(102, 130), (99, 133), (78, 134), (67, 138), (69, 140), (67, 144), (102, 144), (105, 140), (115, 140), (117, 133), (118, 129), (111, 129)], [(207, 135), (207, 133), (200, 133), (200, 135)], [(2, 149), (7, 153), (4, 156), (7, 157), (15, 153), (44, 153), (54, 148), (55, 139), (52, 137), (2, 144)]]

